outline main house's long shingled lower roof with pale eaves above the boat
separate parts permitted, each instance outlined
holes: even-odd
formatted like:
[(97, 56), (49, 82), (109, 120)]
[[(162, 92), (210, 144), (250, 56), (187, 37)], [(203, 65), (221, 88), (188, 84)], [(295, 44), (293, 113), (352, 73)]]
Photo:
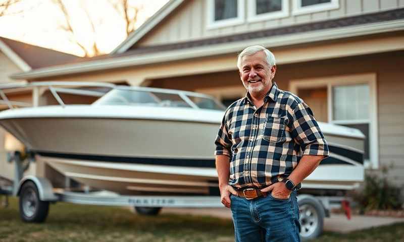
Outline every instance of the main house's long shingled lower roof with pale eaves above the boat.
[[(182, 1), (171, 0), (169, 4), (181, 4)], [(167, 5), (164, 7), (167, 10)], [(174, 8), (171, 5), (171, 8)], [(162, 10), (163, 15), (169, 13)], [(171, 10), (172, 11), (172, 10)], [(163, 20), (164, 18), (161, 18)], [(201, 40), (165, 44), (159, 46), (142, 46), (130, 49), (131, 41), (125, 41), (122, 46), (128, 47), (125, 52), (111, 53), (92, 58), (76, 58), (70, 63), (60, 66), (43, 67), (25, 71), (11, 76), (13, 79), (28, 79), (84, 73), (98, 70), (147, 65), (189, 59), (195, 57), (213, 56), (218, 54), (236, 53), (252, 44), (265, 47), (284, 47), (301, 43), (315, 43), (316, 41), (343, 39), (355, 36), (365, 36), (377, 33), (404, 30), (404, 8), (390, 11), (351, 16), (335, 20), (294, 25), (263, 31), (233, 34), (229, 36), (207, 38)], [(156, 26), (157, 23), (151, 24)], [(146, 23), (147, 25), (147, 23)], [(150, 27), (148, 27), (150, 28)], [(137, 31), (136, 31), (137, 32)], [(140, 36), (140, 35), (139, 35)], [(137, 36), (136, 38), (138, 38)], [(126, 48), (125, 47), (125, 48)], [(123, 48), (123, 47), (122, 47)]]

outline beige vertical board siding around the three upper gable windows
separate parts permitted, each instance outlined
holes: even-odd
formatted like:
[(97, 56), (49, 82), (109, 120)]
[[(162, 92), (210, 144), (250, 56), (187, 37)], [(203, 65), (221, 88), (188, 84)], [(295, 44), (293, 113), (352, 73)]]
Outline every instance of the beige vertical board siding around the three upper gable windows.
[(391, 10), (402, 7), (403, 1), (397, 0), (339, 0), (339, 8), (322, 12), (294, 15), (294, 0), (289, 0), (289, 16), (279, 19), (248, 22), (248, 4), (245, 1), (244, 23), (234, 26), (208, 29), (206, 0), (187, 1), (167, 17), (158, 27), (144, 36), (139, 46), (160, 45), (184, 42), (196, 39), (232, 35), (259, 31), (269, 28), (279, 28), (295, 24), (318, 22), (346, 16), (361, 15), (371, 12)]

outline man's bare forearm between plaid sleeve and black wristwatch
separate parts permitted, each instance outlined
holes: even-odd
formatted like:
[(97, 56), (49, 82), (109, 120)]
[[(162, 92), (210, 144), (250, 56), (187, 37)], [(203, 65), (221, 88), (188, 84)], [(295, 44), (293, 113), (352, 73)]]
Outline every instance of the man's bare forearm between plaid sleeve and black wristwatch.
[(317, 168), (322, 159), (324, 159), (323, 155), (304, 155), (288, 178), (291, 179), (295, 185), (299, 184)]

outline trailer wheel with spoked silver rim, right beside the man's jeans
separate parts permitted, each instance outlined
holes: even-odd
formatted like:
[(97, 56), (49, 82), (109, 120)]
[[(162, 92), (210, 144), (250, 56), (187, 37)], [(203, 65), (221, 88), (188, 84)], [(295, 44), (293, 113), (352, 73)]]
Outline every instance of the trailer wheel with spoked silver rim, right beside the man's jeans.
[(301, 240), (316, 238), (323, 232), (325, 211), (317, 199), (310, 197), (301, 199), (299, 214)]

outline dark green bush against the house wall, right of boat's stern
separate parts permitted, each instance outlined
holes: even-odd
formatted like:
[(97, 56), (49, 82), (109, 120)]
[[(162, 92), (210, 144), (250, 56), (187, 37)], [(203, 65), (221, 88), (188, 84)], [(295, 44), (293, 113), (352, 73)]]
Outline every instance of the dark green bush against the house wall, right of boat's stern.
[(387, 173), (388, 168), (382, 167), (381, 175), (365, 175), (363, 190), (353, 194), (362, 212), (401, 208), (400, 188), (389, 183)]

